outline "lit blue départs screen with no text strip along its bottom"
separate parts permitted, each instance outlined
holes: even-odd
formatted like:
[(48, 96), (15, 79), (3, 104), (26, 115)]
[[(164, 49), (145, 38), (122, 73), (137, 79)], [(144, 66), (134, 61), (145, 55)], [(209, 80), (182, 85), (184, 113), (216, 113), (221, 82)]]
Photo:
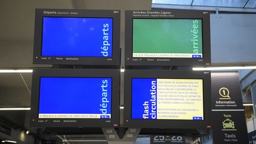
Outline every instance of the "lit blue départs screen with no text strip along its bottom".
[(113, 18), (43, 17), (42, 56), (112, 57)]

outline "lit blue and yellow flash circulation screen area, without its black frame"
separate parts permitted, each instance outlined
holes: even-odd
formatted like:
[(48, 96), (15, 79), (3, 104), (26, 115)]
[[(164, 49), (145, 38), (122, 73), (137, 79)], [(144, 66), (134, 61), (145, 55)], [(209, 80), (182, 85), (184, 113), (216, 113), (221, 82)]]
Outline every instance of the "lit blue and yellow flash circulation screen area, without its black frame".
[(204, 120), (203, 79), (132, 79), (132, 119)]

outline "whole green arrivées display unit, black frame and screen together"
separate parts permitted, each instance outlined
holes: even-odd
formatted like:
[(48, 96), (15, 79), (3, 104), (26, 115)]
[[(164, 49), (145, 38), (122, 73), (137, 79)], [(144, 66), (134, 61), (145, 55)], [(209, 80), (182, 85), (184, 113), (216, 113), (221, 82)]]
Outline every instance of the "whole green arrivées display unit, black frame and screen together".
[(210, 65), (209, 21), (203, 11), (126, 11), (126, 65)]

